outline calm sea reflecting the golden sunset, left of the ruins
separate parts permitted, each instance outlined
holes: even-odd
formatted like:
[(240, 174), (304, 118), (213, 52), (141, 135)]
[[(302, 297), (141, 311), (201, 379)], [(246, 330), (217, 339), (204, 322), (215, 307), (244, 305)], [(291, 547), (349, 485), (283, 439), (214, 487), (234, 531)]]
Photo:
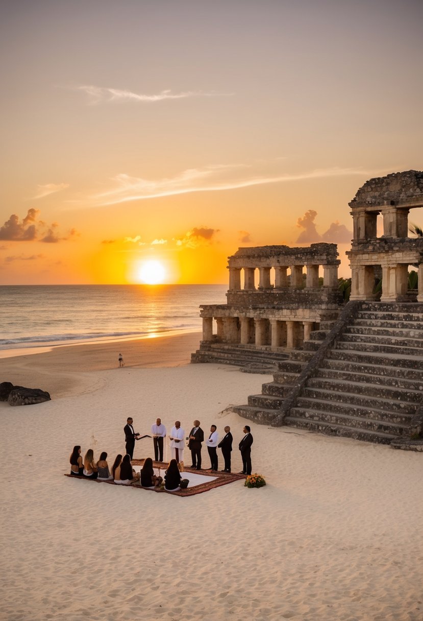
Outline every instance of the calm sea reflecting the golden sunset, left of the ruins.
[(0, 350), (201, 330), (227, 285), (0, 286)]

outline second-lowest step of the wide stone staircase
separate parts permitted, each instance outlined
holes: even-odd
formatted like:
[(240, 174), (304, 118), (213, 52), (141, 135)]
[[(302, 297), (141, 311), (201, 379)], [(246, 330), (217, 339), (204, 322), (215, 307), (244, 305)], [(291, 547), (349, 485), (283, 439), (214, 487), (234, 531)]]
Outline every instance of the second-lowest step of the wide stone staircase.
[[(342, 414), (341, 412), (324, 412), (323, 410), (311, 410), (300, 407), (293, 407), (290, 410), (289, 417), (313, 420), (318, 422), (326, 422), (335, 425), (343, 425), (347, 427), (361, 428), (382, 433), (390, 433), (394, 436), (404, 435), (409, 425), (393, 422), (389, 420), (376, 420), (370, 417), (364, 418), (360, 416), (351, 416)], [(286, 420), (286, 419), (285, 419)]]

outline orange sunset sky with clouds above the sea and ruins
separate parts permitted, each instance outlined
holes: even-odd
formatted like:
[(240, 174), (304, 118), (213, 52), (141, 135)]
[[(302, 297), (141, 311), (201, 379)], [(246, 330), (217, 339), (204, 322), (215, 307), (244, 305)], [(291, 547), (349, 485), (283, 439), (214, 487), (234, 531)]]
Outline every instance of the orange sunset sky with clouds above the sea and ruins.
[(4, 0), (0, 22), (0, 284), (227, 283), (239, 247), (321, 241), (349, 276), (349, 201), (422, 170), (417, 0)]

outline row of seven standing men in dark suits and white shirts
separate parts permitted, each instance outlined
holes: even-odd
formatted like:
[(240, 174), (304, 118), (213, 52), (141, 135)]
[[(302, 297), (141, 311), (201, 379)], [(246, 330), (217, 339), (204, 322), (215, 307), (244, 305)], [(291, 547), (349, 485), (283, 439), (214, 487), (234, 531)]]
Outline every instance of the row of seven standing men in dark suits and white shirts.
[[(202, 469), (202, 443), (205, 442), (208, 450), (208, 456), (210, 458), (210, 468), (208, 470), (218, 471), (218, 453), (217, 449), (220, 448), (222, 451), (223, 460), (225, 461), (225, 468), (221, 469), (221, 472), (231, 472), (231, 452), (232, 452), (232, 443), (233, 437), (231, 434), (231, 428), (229, 425), (225, 427), (225, 435), (223, 435), (222, 439), (219, 442), (219, 433), (217, 431), (216, 425), (212, 425), (210, 427), (210, 434), (204, 440), (204, 432), (200, 427), (200, 421), (194, 420), (193, 427), (189, 432), (189, 435), (185, 437), (185, 430), (180, 426), (180, 421), (176, 420), (174, 426), (171, 429), (171, 433), (169, 434), (170, 440), (170, 448), (171, 448), (171, 456), (172, 460), (175, 460), (176, 463), (180, 463), (184, 461), (184, 448), (185, 441), (187, 441), (187, 446), (191, 452), (191, 465), (190, 468), (195, 468), (197, 470)], [(127, 424), (123, 428), (125, 432), (125, 448), (130, 455), (130, 458), (133, 457), (133, 450), (135, 447), (136, 440), (140, 439), (140, 433), (136, 433), (133, 427), (133, 419), (129, 417), (127, 419)], [(252, 435), (251, 428), (249, 425), (245, 425), (244, 429), (244, 437), (239, 442), (239, 451), (241, 451), (241, 458), (243, 460), (243, 469), (240, 474), (251, 474), (251, 445), (252, 445)], [(154, 446), (154, 459), (156, 461), (163, 461), (163, 443), (164, 438), (166, 438), (166, 427), (161, 422), (161, 419), (156, 419), (156, 422), (151, 425), (151, 434), (153, 437), (153, 446)], [(145, 436), (143, 436), (145, 437)]]

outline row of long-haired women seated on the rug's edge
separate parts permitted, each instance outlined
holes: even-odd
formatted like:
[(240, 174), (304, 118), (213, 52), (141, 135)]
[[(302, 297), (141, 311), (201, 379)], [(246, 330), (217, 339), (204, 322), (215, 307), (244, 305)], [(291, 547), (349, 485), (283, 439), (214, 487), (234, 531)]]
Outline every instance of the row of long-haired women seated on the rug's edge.
[[(114, 464), (109, 469), (107, 463), (107, 453), (103, 451), (98, 461), (94, 460), (94, 451), (89, 448), (82, 460), (81, 446), (76, 445), (69, 458), (71, 464), (71, 475), (84, 476), (89, 479), (97, 479), (97, 481), (114, 481), (120, 485), (130, 485), (131, 483), (140, 482), (141, 487), (154, 489), (161, 487), (163, 477), (156, 475), (153, 468), (153, 460), (147, 457), (144, 461), (140, 473), (136, 473), (131, 464), (131, 456), (117, 455)], [(167, 470), (164, 473), (164, 488), (168, 491), (177, 491), (180, 489), (180, 475), (176, 460), (171, 460)]]

